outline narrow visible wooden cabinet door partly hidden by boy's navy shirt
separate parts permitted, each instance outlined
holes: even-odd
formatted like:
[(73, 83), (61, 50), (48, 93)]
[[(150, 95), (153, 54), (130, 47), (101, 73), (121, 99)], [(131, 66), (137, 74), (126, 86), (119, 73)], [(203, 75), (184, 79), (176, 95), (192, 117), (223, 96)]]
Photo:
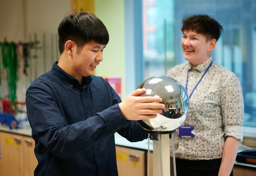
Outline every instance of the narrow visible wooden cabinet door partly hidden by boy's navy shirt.
[(34, 170), (38, 164), (35, 156), (35, 141), (32, 137), (24, 136), (24, 160), (25, 160), (25, 176), (33, 176)]

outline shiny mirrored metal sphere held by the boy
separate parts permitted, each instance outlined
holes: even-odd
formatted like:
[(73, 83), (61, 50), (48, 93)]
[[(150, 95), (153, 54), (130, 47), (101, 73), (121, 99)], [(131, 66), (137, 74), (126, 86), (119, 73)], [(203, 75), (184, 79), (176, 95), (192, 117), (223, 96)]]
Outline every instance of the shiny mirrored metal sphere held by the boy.
[(172, 131), (178, 129), (187, 119), (189, 98), (186, 89), (167, 76), (153, 76), (140, 83), (137, 88), (145, 88), (142, 96), (162, 98), (165, 108), (156, 118), (137, 121), (145, 130)]

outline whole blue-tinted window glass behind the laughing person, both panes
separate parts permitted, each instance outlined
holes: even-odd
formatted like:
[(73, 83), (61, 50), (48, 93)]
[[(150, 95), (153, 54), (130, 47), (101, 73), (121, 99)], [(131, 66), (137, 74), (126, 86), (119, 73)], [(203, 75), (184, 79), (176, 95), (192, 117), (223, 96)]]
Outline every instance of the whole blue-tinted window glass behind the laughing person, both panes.
[(234, 72), (244, 96), (244, 126), (256, 127), (256, 1), (143, 0), (145, 79), (165, 75), (187, 62), (182, 53), (182, 19), (195, 14), (215, 18), (223, 32), (211, 55)]

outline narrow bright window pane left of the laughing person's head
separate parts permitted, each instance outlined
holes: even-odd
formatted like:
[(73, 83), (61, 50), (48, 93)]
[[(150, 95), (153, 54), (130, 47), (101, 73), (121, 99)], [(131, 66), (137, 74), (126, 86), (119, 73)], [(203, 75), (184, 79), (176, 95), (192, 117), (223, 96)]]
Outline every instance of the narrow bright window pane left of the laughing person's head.
[(145, 78), (165, 75), (174, 66), (174, 2), (143, 0)]

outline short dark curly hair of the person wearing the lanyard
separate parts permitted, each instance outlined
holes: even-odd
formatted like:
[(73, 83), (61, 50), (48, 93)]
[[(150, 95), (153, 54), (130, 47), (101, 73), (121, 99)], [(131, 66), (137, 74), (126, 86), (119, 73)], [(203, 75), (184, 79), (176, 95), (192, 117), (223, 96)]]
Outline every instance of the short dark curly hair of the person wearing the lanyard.
[(198, 34), (204, 34), (207, 40), (220, 38), (220, 32), (223, 27), (214, 18), (208, 15), (193, 15), (182, 20), (183, 26), (181, 31), (194, 31)]

